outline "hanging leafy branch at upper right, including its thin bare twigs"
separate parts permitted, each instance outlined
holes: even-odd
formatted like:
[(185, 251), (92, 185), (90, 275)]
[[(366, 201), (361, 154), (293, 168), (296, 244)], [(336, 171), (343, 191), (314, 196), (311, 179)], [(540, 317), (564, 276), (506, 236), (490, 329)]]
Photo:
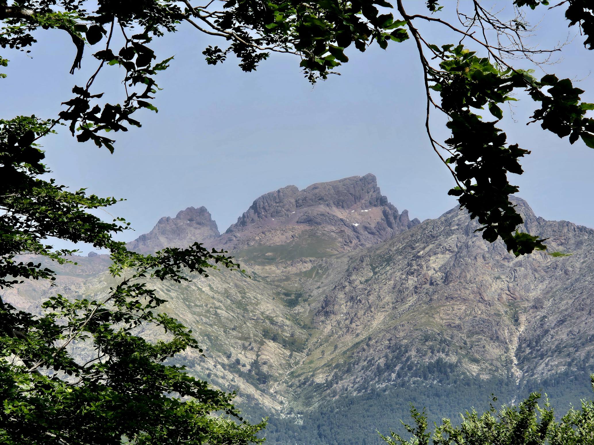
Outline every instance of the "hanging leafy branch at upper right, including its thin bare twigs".
[[(501, 104), (516, 100), (513, 96), (517, 91), (526, 91), (540, 106), (529, 123), (539, 122), (543, 129), (560, 138), (569, 136), (571, 144), (581, 138), (590, 148), (594, 148), (594, 119), (586, 113), (594, 109), (594, 104), (583, 103), (580, 94), (584, 91), (574, 87), (569, 79), (558, 80), (550, 74), (537, 80), (531, 69), (510, 64), (510, 59), (537, 65), (547, 63), (552, 53), (561, 50), (525, 46), (523, 38), (529, 28), (521, 12), (512, 20), (502, 21), (478, 1), (473, 0), (472, 4), (470, 13), (457, 9), (462, 27), (456, 27), (433, 15), (408, 14), (402, 0), (397, 0), (397, 9), (415, 40), (425, 74), (426, 131), (456, 182), (449, 194), (459, 196), (460, 206), (482, 224), (478, 229), (482, 237), (489, 242), (500, 237), (516, 256), (545, 250), (544, 239), (519, 230), (522, 216), (509, 199), (519, 189), (510, 184), (507, 174), (522, 174), (519, 158), (530, 151), (508, 144), (505, 133), (497, 128), (503, 118)], [(514, 2), (517, 6), (523, 4)], [(432, 12), (442, 8), (437, 7), (437, 2), (428, 2), (427, 6)], [(584, 23), (592, 19), (585, 18)], [(453, 31), (460, 36), (459, 44), (438, 47), (427, 42), (415, 25), (418, 21)], [(476, 28), (482, 32), (476, 33)], [(492, 39), (495, 43), (491, 43)], [(463, 46), (464, 40), (482, 49), (484, 56)], [(544, 55), (544, 59), (538, 61), (539, 55)], [(434, 97), (434, 92), (441, 100)], [(447, 116), (451, 136), (443, 144), (432, 136), (431, 109)], [(475, 112), (485, 109), (494, 120)]]

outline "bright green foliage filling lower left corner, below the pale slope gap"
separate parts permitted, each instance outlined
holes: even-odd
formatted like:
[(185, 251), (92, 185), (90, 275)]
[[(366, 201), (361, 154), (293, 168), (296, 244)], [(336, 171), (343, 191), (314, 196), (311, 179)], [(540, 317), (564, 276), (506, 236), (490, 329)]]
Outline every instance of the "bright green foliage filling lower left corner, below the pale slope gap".
[[(146, 279), (188, 281), (181, 269), (206, 275), (212, 259), (236, 268), (194, 244), (128, 255), (110, 273), (129, 276), (102, 298), (58, 294), (39, 316), (0, 300), (2, 443), (260, 443), (256, 434), (265, 423), (242, 422), (231, 403), (235, 393), (163, 364), (188, 348), (202, 349), (191, 330), (155, 312), (165, 300)], [(141, 326), (143, 335), (148, 328), (160, 339), (144, 338)], [(212, 416), (221, 411), (230, 417)]]

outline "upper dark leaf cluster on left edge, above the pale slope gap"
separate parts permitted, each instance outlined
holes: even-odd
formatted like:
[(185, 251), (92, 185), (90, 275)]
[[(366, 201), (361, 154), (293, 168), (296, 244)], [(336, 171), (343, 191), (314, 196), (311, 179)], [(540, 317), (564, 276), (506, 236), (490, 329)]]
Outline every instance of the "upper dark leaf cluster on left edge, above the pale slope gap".
[(112, 234), (128, 228), (121, 218), (104, 222), (89, 213), (118, 202), (115, 198), (87, 195), (85, 189), (70, 192), (54, 180), (41, 179), (50, 173), (43, 164), (44, 152), (34, 142), (47, 134), (54, 120), (36, 116), (0, 119), (0, 288), (20, 282), (19, 278), (49, 278), (53, 272), (39, 264), (17, 261), (27, 252), (66, 262), (64, 255), (74, 250), (53, 252), (48, 238), (90, 243), (97, 248), (119, 249)]

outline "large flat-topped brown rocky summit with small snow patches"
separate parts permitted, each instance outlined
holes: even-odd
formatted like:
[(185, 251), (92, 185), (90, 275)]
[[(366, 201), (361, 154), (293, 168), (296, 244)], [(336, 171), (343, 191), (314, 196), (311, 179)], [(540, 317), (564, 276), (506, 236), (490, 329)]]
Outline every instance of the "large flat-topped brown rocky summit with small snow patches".
[[(419, 220), (411, 221), (406, 210), (400, 213), (388, 202), (375, 176), (368, 173), (315, 183), (303, 190), (290, 185), (266, 193), (228, 228), (225, 243), (239, 246), (254, 237), (255, 244), (276, 243), (281, 232), (283, 239), (289, 234), (294, 239), (299, 231), (315, 227), (340, 239), (340, 249), (352, 249), (381, 242), (416, 224)], [(287, 231), (289, 227), (293, 229)]]

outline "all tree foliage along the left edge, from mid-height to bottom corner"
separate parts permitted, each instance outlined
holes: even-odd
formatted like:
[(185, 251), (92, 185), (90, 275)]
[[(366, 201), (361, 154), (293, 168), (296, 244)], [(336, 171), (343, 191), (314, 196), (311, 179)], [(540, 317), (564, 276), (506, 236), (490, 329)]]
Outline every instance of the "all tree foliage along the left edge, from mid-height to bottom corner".
[(0, 176), (8, 179), (0, 184), (0, 289), (23, 279), (55, 280), (55, 272), (27, 262), (23, 253), (72, 262), (65, 255), (75, 251), (53, 251), (48, 237), (109, 249), (117, 284), (93, 298), (55, 295), (35, 314), (0, 296), (0, 441), (260, 443), (256, 435), (265, 422), (242, 421), (232, 405), (235, 393), (211, 389), (184, 367), (164, 363), (187, 349), (202, 350), (191, 330), (158, 311), (165, 300), (147, 285), (239, 265), (200, 243), (154, 255), (128, 252), (112, 238), (127, 222), (89, 213), (118, 200), (40, 179), (48, 169), (33, 141), (52, 125), (34, 116), (0, 121)]

